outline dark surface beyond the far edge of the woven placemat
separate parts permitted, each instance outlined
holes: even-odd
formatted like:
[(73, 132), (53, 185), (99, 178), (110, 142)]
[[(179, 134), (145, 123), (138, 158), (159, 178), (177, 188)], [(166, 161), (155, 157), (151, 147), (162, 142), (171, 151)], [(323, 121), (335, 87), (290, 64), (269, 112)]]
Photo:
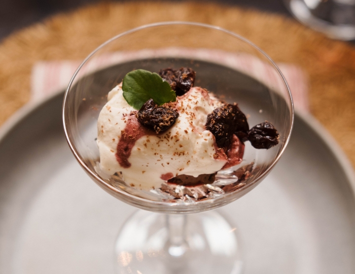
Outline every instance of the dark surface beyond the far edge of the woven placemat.
[[(0, 0), (0, 41), (11, 32), (43, 20), (58, 12), (103, 0)], [(107, 0), (104, 0), (108, 2)], [(170, 0), (173, 1), (173, 0)], [(116, 2), (122, 2), (120, 0)], [(182, 2), (175, 0), (175, 2)], [(199, 1), (203, 2), (203, 1)], [(238, 5), (291, 16), (282, 0), (210, 0), (224, 5)]]

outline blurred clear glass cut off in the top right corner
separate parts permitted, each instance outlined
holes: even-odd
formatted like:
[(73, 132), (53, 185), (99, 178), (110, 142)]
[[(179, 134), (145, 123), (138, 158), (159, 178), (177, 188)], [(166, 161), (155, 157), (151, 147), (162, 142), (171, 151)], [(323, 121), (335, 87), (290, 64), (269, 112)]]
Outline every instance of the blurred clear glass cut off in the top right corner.
[(330, 38), (355, 39), (355, 0), (285, 0), (285, 4), (301, 23)]

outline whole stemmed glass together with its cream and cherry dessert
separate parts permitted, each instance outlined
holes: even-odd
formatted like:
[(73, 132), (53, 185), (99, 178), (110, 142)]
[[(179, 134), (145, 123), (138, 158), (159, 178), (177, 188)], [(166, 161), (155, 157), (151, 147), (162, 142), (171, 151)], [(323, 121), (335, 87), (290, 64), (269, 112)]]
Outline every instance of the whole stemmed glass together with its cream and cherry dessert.
[(285, 150), (289, 87), (228, 30), (164, 22), (105, 42), (66, 90), (70, 149), (102, 189), (139, 209), (115, 243), (118, 273), (240, 273), (236, 227), (217, 211)]

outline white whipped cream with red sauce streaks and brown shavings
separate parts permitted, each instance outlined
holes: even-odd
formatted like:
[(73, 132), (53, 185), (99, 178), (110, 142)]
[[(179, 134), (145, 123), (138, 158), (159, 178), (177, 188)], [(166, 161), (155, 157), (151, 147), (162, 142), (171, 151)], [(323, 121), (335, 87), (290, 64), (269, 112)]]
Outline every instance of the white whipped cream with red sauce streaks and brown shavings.
[(207, 90), (192, 87), (176, 98), (174, 106), (180, 116), (170, 128), (156, 134), (137, 121), (137, 111), (123, 97), (122, 84), (111, 90), (97, 122), (103, 172), (122, 172), (127, 184), (152, 189), (177, 175), (197, 177), (222, 169), (226, 154), (204, 129), (207, 114), (222, 102)]

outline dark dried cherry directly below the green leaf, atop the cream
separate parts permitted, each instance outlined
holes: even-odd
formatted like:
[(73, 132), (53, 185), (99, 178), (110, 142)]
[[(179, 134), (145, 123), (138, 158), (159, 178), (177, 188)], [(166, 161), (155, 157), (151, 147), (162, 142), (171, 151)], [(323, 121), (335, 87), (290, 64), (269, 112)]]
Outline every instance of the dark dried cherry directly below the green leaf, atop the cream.
[(141, 125), (159, 133), (172, 126), (179, 113), (172, 108), (158, 106), (153, 99), (149, 99), (137, 112), (136, 117)]

